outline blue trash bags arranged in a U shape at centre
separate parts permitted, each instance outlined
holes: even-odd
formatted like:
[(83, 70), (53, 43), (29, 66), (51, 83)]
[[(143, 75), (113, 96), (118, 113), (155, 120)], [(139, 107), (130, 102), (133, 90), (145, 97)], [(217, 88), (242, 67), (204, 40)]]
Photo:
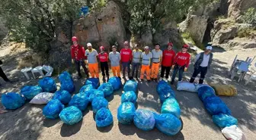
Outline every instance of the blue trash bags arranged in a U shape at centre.
[[(134, 125), (144, 131), (155, 127), (166, 135), (175, 135), (181, 131), (181, 109), (178, 101), (174, 98), (174, 91), (167, 82), (159, 82), (157, 86), (158, 95), (162, 101), (162, 114), (156, 114), (151, 110), (136, 110), (137, 83), (127, 81), (123, 87), (126, 89), (121, 96), (121, 103), (117, 109), (117, 120), (123, 125)], [(123, 88), (124, 89), (124, 88)]]

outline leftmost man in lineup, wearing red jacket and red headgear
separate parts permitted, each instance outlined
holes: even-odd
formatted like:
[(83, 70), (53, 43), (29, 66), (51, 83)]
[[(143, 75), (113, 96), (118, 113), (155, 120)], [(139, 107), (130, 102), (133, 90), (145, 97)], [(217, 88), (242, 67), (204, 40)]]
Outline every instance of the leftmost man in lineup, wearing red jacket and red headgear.
[(73, 45), (71, 46), (71, 58), (72, 64), (75, 63), (76, 70), (78, 72), (78, 79), (82, 78), (80, 67), (85, 70), (85, 75), (89, 77), (88, 70), (85, 67), (85, 48), (82, 45), (78, 45), (78, 39), (76, 36), (72, 37)]

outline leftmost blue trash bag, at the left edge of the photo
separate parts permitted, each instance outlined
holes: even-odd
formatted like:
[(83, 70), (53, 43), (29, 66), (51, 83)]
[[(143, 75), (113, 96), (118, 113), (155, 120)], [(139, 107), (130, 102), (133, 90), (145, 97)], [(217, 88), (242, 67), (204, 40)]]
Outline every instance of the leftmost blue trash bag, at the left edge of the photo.
[(7, 110), (15, 110), (25, 103), (25, 98), (15, 92), (2, 94), (1, 102)]

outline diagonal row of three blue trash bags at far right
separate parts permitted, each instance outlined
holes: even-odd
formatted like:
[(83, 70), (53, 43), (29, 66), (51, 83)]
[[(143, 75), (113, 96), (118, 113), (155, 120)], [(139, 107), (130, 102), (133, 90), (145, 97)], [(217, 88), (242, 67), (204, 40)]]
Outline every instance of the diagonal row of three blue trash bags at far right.
[(202, 86), (198, 89), (198, 97), (209, 114), (213, 116), (213, 123), (220, 128), (238, 124), (238, 120), (232, 117), (229, 107), (215, 94), (210, 86)]

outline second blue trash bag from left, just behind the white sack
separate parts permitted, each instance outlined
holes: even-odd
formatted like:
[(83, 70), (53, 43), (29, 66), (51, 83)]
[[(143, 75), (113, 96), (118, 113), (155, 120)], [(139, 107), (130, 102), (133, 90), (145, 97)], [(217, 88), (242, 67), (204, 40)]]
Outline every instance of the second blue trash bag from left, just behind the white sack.
[(41, 92), (43, 92), (43, 89), (40, 86), (24, 86), (21, 89), (21, 95), (24, 95), (27, 100), (32, 100), (32, 98)]

